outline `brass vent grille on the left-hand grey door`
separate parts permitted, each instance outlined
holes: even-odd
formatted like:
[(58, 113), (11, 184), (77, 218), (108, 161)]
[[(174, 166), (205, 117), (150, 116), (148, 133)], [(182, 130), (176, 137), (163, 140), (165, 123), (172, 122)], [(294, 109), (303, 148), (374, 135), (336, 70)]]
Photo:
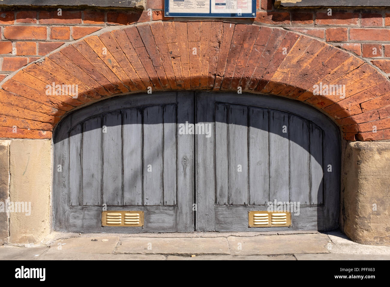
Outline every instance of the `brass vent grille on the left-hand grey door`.
[(144, 212), (140, 210), (107, 210), (101, 212), (101, 226), (144, 226)]

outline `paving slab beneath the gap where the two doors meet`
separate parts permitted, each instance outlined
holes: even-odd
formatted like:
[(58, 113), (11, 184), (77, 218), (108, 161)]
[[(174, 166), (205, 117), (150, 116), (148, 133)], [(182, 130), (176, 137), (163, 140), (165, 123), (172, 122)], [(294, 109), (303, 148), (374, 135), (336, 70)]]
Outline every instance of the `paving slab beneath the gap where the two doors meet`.
[(116, 253), (140, 254), (230, 254), (224, 237), (207, 238), (121, 238)]

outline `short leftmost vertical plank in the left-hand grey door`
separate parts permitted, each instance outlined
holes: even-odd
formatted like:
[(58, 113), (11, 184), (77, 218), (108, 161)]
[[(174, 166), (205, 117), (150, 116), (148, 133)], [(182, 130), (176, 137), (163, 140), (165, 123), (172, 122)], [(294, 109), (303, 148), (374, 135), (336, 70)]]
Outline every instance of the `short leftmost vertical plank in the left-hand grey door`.
[(82, 202), (81, 141), (82, 125), (78, 124), (69, 133), (69, 205)]

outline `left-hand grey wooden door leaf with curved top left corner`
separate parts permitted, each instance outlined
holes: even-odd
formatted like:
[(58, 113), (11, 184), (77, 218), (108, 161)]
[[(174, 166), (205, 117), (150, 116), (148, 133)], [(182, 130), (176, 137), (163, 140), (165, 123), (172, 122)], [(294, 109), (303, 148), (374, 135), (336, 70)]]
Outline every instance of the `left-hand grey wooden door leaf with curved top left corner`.
[[(193, 231), (194, 141), (176, 132), (193, 111), (193, 93), (172, 92), (109, 99), (63, 119), (54, 134), (54, 228)], [(102, 227), (104, 205), (144, 210), (144, 227)]]

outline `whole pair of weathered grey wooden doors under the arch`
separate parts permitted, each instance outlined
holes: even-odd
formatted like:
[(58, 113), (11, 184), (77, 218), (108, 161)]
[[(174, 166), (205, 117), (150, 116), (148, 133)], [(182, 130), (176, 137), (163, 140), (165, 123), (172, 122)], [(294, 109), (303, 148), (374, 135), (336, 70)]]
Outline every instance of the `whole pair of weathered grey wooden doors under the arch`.
[[(53, 142), (55, 230), (330, 230), (338, 224), (339, 130), (292, 100), (207, 92), (119, 96), (66, 116)], [(274, 202), (299, 205), (292, 226), (249, 228), (248, 210)], [(143, 210), (144, 226), (101, 226), (102, 210)]]

